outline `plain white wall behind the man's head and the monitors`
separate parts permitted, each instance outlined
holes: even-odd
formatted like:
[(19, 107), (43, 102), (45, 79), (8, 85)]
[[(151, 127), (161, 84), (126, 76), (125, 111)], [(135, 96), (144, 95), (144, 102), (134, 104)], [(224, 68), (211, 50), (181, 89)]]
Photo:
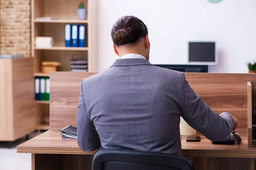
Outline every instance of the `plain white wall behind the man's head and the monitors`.
[(124, 15), (148, 26), (152, 64), (186, 64), (189, 40), (217, 43), (209, 72), (247, 73), (256, 59), (256, 0), (99, 0), (99, 71), (117, 58), (111, 28)]

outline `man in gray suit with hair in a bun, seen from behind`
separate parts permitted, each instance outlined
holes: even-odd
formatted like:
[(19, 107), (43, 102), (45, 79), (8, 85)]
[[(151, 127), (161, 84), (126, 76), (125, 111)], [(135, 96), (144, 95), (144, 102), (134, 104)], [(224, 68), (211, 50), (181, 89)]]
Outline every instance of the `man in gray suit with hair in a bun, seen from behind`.
[(182, 155), (180, 116), (210, 140), (225, 139), (238, 120), (219, 116), (181, 72), (149, 59), (148, 29), (134, 16), (120, 18), (111, 36), (120, 57), (81, 83), (77, 142), (81, 150), (139, 150)]

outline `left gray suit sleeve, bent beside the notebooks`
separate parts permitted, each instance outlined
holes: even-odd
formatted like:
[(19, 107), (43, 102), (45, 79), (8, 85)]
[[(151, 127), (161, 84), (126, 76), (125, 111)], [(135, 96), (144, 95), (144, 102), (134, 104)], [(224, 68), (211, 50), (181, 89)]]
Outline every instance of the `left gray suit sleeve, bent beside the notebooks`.
[(77, 126), (77, 143), (81, 150), (91, 151), (99, 149), (101, 146), (99, 135), (95, 129), (93, 121), (91, 121), (86, 113), (83, 89), (80, 88), (79, 105), (77, 106), (76, 126)]

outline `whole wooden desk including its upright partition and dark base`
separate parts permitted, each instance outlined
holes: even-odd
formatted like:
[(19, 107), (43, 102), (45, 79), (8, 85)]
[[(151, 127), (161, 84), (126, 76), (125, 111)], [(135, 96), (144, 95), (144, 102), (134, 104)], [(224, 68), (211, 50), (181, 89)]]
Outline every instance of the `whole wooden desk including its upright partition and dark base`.
[[(76, 126), (81, 80), (93, 74), (96, 73), (50, 73), (51, 129)], [(204, 136), (201, 142), (186, 142), (182, 137), (184, 156), (192, 160), (195, 170), (254, 170), (256, 148), (250, 148), (250, 122), (251, 109), (256, 106), (252, 105), (256, 104), (256, 74), (191, 73), (186, 74), (186, 79), (216, 113), (227, 111), (239, 119), (237, 132), (242, 143), (214, 145)], [(19, 145), (17, 152), (32, 153), (33, 170), (89, 170), (96, 151), (82, 152), (76, 140), (62, 140), (59, 130), (49, 130)]]

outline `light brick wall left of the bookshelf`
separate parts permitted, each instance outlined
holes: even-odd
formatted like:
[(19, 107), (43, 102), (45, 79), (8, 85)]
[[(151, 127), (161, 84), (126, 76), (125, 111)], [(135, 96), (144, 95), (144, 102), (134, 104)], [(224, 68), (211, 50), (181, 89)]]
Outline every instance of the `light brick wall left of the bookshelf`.
[(0, 0), (0, 54), (31, 56), (30, 0)]

